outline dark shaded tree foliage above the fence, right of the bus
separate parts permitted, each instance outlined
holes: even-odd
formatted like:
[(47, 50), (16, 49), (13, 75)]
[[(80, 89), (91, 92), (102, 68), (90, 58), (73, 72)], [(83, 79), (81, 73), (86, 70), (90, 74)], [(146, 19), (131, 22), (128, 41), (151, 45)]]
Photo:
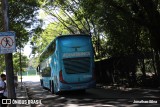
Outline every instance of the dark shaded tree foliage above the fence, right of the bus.
[[(145, 7), (147, 5), (151, 9)], [(153, 35), (152, 26), (159, 28), (155, 24), (160, 23), (157, 19), (160, 16), (158, 5), (159, 2), (151, 0), (85, 0), (81, 2), (81, 6), (86, 10), (85, 14), (94, 17), (99, 31), (105, 32), (109, 47), (106, 52), (110, 52), (111, 56), (133, 54), (142, 49), (150, 51), (151, 47), (155, 48), (158, 42), (153, 39), (156, 35)], [(157, 20), (150, 20), (155, 14), (157, 14), (155, 18)], [(159, 34), (157, 31), (155, 33)]]

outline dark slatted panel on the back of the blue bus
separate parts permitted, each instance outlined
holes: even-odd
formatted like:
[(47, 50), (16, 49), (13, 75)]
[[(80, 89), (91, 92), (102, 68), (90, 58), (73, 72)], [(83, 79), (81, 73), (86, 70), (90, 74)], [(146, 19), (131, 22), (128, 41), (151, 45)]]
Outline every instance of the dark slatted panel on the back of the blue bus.
[(90, 60), (89, 57), (63, 59), (64, 69), (69, 74), (89, 72)]

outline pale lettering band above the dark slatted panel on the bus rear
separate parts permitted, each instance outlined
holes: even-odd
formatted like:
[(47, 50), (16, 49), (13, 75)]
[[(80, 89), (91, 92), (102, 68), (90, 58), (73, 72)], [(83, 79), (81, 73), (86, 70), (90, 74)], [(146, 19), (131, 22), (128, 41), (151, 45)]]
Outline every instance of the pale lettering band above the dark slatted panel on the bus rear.
[(90, 56), (90, 52), (64, 53), (63, 58)]

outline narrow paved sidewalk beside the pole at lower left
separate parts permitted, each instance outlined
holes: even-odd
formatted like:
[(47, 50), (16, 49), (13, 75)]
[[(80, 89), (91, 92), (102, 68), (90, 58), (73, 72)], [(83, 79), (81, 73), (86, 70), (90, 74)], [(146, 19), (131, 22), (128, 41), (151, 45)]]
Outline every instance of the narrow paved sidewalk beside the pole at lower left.
[(16, 98), (17, 100), (19, 99), (20, 101), (22, 101), (22, 104), (17, 104), (16, 107), (31, 107), (28, 104), (24, 104), (24, 100), (28, 100), (28, 95), (27, 95), (27, 90), (26, 90), (26, 86), (25, 84), (22, 83), (18, 83), (18, 87), (16, 89)]

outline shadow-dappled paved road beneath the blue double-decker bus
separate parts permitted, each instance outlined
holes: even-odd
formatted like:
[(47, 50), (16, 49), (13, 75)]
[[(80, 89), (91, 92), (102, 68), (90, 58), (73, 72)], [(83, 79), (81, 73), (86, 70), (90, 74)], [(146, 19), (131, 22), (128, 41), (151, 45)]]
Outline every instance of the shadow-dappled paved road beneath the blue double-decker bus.
[(86, 93), (75, 91), (54, 95), (42, 89), (37, 81), (25, 83), (29, 98), (42, 101), (41, 105), (32, 105), (32, 107), (160, 107), (158, 89), (117, 89), (98, 86), (87, 90)]

